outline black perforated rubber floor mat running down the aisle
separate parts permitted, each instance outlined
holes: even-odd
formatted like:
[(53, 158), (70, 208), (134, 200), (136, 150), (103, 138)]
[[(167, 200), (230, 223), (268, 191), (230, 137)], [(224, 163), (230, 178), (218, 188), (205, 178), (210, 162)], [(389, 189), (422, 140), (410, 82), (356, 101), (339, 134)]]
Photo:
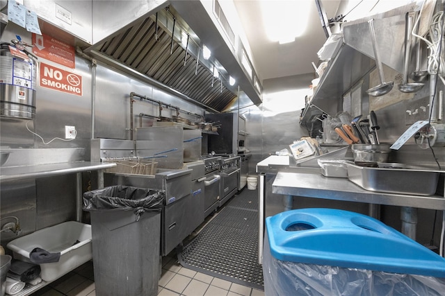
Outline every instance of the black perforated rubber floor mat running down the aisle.
[(178, 252), (179, 263), (212, 277), (264, 290), (263, 270), (258, 263), (256, 200), (257, 191), (244, 189), (235, 195), (200, 234)]

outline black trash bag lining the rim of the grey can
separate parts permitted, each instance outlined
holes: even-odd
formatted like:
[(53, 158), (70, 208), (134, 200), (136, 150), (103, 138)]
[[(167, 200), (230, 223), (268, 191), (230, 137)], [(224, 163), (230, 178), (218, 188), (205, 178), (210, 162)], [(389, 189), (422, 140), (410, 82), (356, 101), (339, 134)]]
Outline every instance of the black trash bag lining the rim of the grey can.
[(165, 191), (132, 186), (109, 186), (83, 193), (84, 211), (133, 210), (136, 220), (145, 211), (161, 211)]

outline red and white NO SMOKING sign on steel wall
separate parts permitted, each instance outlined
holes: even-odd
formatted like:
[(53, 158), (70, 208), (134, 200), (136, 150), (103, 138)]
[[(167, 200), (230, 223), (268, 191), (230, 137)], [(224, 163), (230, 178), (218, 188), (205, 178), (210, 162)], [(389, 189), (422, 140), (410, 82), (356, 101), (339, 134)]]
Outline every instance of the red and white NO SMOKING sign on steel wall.
[(82, 76), (40, 62), (40, 86), (82, 96)]

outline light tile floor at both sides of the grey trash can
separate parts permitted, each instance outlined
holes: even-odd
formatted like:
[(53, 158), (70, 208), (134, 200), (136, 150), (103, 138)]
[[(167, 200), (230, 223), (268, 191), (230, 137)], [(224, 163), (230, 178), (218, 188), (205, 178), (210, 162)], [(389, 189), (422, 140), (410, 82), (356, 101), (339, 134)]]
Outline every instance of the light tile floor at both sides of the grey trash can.
[[(182, 267), (174, 256), (164, 256), (159, 279), (159, 296), (264, 296), (249, 288)], [(95, 296), (92, 261), (44, 286), (33, 296)]]

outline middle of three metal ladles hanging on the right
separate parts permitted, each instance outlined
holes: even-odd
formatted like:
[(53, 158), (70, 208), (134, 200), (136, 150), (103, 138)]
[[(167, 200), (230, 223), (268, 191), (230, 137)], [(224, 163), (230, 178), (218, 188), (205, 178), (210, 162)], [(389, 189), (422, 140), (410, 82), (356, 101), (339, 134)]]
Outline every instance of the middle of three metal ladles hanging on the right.
[(411, 59), (411, 40), (412, 40), (412, 20), (414, 19), (414, 11), (407, 12), (405, 17), (405, 60), (403, 62), (403, 81), (398, 85), (398, 90), (401, 92), (417, 92), (423, 87), (423, 83), (412, 82), (408, 83), (408, 71), (410, 68)]

